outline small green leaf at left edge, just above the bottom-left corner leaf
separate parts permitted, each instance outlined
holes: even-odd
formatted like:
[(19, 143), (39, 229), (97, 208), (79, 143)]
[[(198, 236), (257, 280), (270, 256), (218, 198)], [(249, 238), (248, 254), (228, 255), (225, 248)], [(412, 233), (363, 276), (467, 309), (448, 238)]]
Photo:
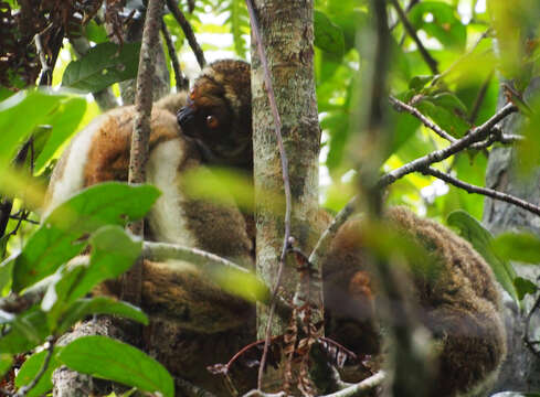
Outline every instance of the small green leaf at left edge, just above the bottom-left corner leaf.
[(19, 314), (9, 325), (6, 335), (0, 337), (0, 352), (24, 353), (42, 344), (50, 335), (43, 311), (32, 308)]

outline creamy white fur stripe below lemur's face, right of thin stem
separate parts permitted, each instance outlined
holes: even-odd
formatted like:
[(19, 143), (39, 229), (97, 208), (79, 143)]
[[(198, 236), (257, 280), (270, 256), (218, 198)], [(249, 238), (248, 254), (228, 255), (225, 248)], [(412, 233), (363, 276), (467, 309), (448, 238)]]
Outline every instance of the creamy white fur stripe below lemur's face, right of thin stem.
[(150, 228), (158, 242), (197, 246), (197, 239), (187, 227), (182, 211), (186, 197), (179, 189), (178, 168), (184, 157), (179, 139), (158, 144), (147, 163), (147, 181), (161, 191), (149, 214)]

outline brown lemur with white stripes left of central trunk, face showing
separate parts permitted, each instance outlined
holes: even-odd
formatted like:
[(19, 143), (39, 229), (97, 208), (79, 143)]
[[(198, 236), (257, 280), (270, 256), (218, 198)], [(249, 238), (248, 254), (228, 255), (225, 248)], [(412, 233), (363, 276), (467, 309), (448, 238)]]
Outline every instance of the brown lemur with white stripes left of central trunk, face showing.
[[(240, 211), (188, 196), (181, 186), (182, 175), (204, 163), (251, 168), (251, 144), (245, 143), (252, 135), (250, 87), (248, 64), (219, 61), (202, 71), (190, 93), (153, 105), (146, 171), (147, 181), (161, 196), (148, 215), (147, 239), (201, 248), (252, 266), (253, 242)], [(176, 117), (180, 108), (182, 128)], [(134, 115), (134, 106), (109, 110), (74, 137), (51, 178), (45, 212), (85, 186), (127, 181)], [(147, 312), (176, 316), (186, 329), (205, 333), (243, 324), (252, 314), (251, 304), (224, 294), (197, 270), (181, 277), (167, 271), (179, 265), (188, 266), (145, 261), (142, 308)], [(223, 301), (227, 305), (216, 310)]]

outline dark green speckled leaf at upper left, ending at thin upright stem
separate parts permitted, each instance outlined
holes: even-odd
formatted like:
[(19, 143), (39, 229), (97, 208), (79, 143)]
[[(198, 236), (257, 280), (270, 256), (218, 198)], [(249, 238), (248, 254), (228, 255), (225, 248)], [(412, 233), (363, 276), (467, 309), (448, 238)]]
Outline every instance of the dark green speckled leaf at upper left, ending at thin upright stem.
[(114, 83), (135, 78), (139, 51), (140, 43), (124, 43), (121, 47), (110, 42), (97, 44), (67, 65), (62, 86), (96, 93)]

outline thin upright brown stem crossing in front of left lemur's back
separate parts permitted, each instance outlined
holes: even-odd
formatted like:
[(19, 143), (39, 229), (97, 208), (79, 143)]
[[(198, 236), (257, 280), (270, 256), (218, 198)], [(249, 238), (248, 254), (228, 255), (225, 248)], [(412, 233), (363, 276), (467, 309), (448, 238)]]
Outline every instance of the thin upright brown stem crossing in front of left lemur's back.
[[(137, 73), (137, 95), (135, 98), (134, 131), (129, 155), (129, 184), (146, 182), (146, 162), (150, 138), (150, 115), (152, 109), (152, 76), (156, 69), (155, 53), (159, 46), (159, 28), (163, 0), (149, 0), (140, 46), (139, 69)], [(129, 229), (136, 236), (144, 236), (144, 221), (134, 222)], [(121, 298), (139, 304), (142, 290), (142, 259), (139, 258), (124, 275)]]

